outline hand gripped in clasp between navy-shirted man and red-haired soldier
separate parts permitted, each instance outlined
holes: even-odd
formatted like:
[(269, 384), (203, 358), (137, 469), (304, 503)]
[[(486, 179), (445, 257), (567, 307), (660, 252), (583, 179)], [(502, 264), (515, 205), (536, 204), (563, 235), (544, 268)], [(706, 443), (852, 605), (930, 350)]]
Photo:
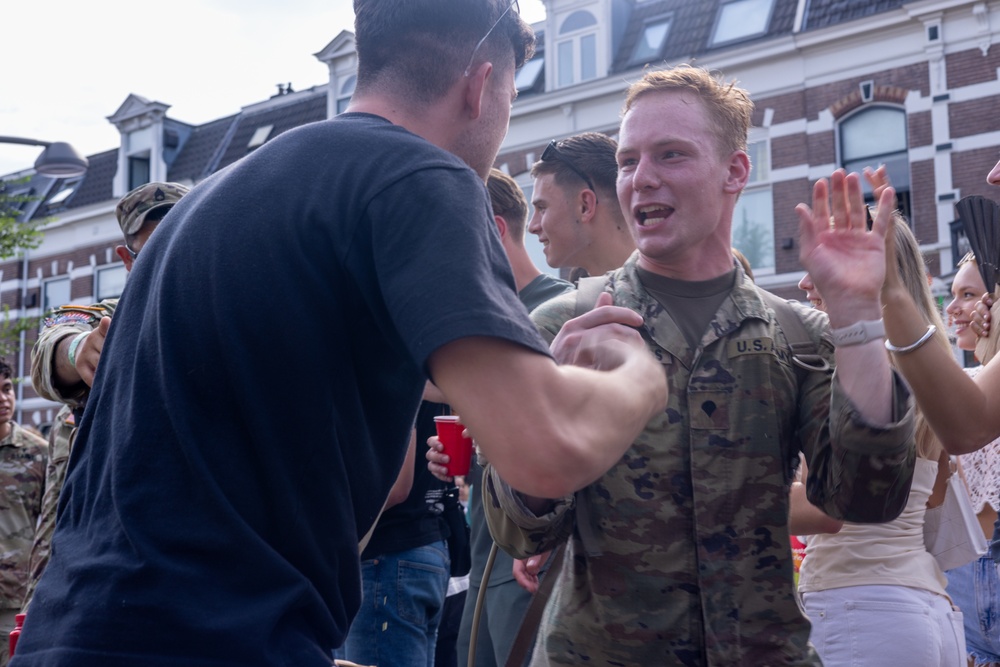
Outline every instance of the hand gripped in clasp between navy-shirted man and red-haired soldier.
[(557, 363), (610, 370), (624, 360), (621, 344), (645, 349), (637, 331), (642, 316), (611, 303), (611, 295), (602, 292), (593, 310), (562, 326), (550, 346)]

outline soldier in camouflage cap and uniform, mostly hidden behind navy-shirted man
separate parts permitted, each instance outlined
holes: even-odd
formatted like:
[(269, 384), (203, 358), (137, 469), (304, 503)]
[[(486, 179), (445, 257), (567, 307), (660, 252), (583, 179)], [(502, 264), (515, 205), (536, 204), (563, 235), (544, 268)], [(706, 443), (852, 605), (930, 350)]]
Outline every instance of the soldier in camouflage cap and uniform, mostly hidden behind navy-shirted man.
[[(115, 216), (121, 225), (124, 244), (115, 247), (126, 271), (167, 211), (187, 193), (179, 183), (147, 183), (121, 198)], [(31, 577), (24, 606), (27, 608), (35, 585), (49, 562), (49, 542), (56, 524), (59, 491), (66, 479), (66, 465), (76, 437), (76, 423), (90, 395), (104, 338), (118, 299), (105, 299), (90, 306), (56, 308), (45, 319), (42, 333), (31, 351), (31, 382), (38, 392), (63, 403), (49, 433), (49, 464), (46, 468), (45, 498), (35, 542), (31, 547)]]

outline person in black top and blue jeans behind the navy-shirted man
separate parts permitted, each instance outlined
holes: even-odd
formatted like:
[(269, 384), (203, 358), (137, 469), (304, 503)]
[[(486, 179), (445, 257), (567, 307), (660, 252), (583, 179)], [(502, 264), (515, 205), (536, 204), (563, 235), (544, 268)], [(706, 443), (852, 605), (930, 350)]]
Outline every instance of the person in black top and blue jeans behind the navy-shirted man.
[[(434, 416), (448, 406), (425, 401), (417, 442), (434, 433)], [(420, 461), (418, 457), (416, 459)], [(379, 518), (361, 553), (361, 608), (341, 655), (359, 665), (433, 667), (451, 559), (441, 499), (448, 485), (414, 462), (406, 500)]]

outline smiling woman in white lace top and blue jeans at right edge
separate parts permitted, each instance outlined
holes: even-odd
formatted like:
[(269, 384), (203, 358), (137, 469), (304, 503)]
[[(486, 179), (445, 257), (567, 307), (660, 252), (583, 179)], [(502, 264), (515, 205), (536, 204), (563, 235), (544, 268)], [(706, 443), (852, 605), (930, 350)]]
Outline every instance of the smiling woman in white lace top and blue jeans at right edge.
[[(952, 282), (954, 297), (948, 304), (948, 315), (955, 325), (955, 344), (959, 349), (974, 351), (976, 334), (972, 331), (972, 314), (986, 285), (979, 274), (976, 258), (969, 253), (958, 263)], [(975, 377), (982, 366), (967, 368)], [(959, 457), (972, 507), (979, 516), (986, 539), (993, 537), (993, 523), (1000, 510), (1000, 440), (982, 449)], [(1000, 577), (990, 554), (967, 565), (949, 570), (948, 594), (965, 616), (965, 642), (970, 664), (975, 667), (1000, 665)]]

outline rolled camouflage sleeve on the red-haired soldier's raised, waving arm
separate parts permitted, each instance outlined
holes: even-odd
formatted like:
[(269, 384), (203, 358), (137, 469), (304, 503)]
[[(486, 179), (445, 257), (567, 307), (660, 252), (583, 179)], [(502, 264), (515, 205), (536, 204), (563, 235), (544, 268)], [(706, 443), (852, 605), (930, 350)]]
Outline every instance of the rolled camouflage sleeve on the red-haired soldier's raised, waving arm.
[(914, 405), (909, 389), (893, 371), (894, 421), (873, 426), (865, 423), (851, 404), (836, 373), (828, 384), (832, 385), (828, 436), (813, 438), (811, 447), (805, 442), (809, 501), (845, 521), (892, 521), (906, 506), (916, 461)]

